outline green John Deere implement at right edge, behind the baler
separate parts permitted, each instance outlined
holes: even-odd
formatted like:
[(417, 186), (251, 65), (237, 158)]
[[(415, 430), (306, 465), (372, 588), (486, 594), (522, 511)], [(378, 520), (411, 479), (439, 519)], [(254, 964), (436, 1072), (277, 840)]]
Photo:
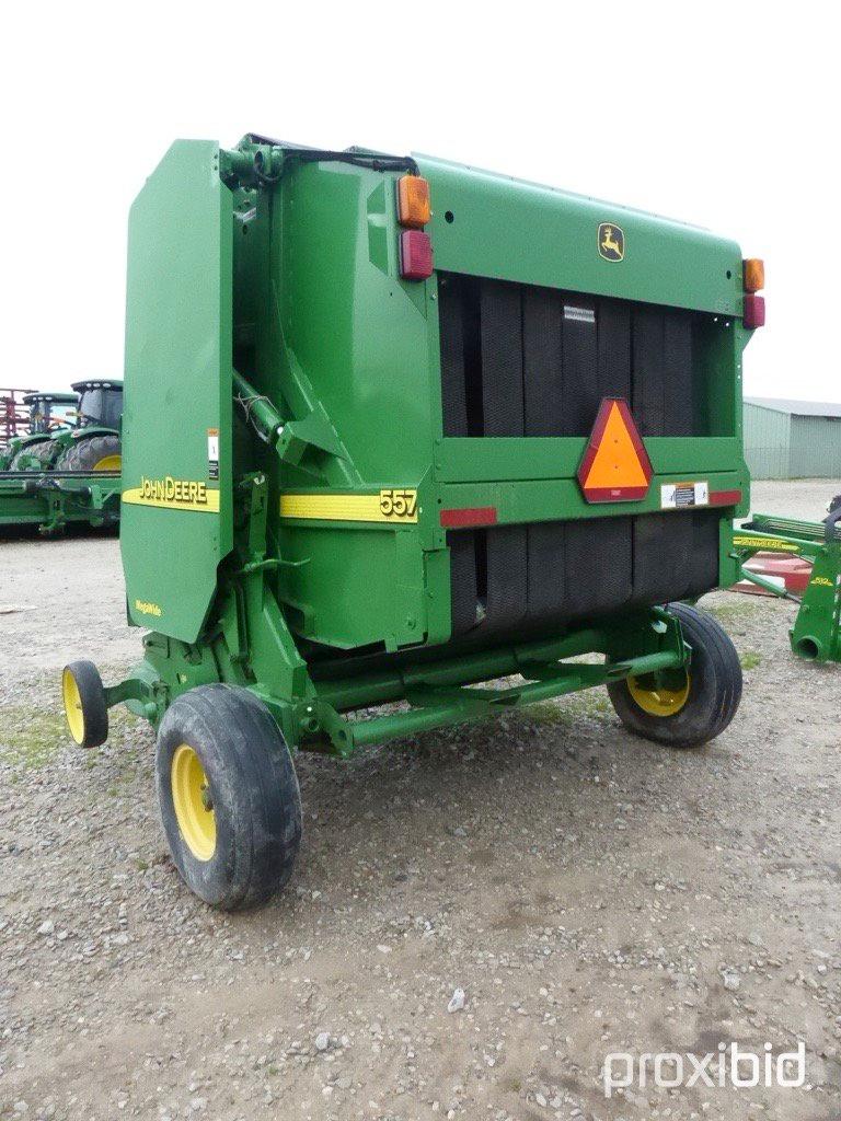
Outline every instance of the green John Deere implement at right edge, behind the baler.
[(771, 580), (742, 568), (743, 580), (784, 599), (800, 602), (789, 631), (792, 649), (810, 661), (841, 661), (841, 503), (823, 522), (756, 515), (736, 530), (734, 556), (741, 563), (757, 553), (785, 553), (812, 562), (802, 599)]

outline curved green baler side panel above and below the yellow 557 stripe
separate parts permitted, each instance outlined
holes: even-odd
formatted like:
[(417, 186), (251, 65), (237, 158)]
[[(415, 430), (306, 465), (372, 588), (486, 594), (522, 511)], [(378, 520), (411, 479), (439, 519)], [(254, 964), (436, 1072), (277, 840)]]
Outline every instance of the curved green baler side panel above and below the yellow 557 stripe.
[[(269, 480), (274, 547), (306, 562), (279, 576), (288, 618), (302, 637), (339, 648), (443, 641), (449, 571), (424, 552), (434, 547), (428, 528), (281, 529), (277, 519), (281, 489), (418, 489), (431, 471), (441, 427), (428, 317), (434, 287), (397, 279), (394, 180), (341, 164), (308, 165), (274, 192), (246, 196), (242, 211), (251, 217), (237, 224), (235, 269), (255, 296), (237, 304), (235, 331), (246, 343), (238, 365), (284, 417), (309, 425), (316, 443), (339, 453), (309, 448), (299, 463), (281, 462), (253, 439), (243, 453)], [(426, 573), (440, 573), (428, 594)]]

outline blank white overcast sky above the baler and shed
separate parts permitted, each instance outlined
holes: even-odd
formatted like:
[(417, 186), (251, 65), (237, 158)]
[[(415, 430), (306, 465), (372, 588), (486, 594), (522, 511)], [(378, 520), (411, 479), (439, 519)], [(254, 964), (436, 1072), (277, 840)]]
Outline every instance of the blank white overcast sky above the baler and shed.
[(734, 238), (768, 278), (746, 391), (841, 399), (832, 4), (20, 11), (0, 44), (0, 385), (119, 376), (131, 200), (173, 139), (257, 131), (431, 152)]

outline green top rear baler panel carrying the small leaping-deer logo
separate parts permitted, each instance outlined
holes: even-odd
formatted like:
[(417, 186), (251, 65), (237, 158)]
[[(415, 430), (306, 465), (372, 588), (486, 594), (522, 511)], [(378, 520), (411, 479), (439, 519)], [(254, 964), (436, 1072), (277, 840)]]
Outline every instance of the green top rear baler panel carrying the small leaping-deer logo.
[[(429, 180), (435, 267), (474, 276), (741, 315), (741, 252), (708, 230), (418, 156)], [(598, 251), (601, 223), (625, 258)]]

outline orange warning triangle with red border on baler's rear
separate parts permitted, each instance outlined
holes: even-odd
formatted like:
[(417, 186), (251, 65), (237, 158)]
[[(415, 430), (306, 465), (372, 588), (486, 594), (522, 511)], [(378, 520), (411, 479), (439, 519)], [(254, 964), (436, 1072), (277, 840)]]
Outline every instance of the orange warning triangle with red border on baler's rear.
[(654, 471), (628, 402), (603, 398), (579, 467), (588, 502), (632, 502), (645, 498)]

